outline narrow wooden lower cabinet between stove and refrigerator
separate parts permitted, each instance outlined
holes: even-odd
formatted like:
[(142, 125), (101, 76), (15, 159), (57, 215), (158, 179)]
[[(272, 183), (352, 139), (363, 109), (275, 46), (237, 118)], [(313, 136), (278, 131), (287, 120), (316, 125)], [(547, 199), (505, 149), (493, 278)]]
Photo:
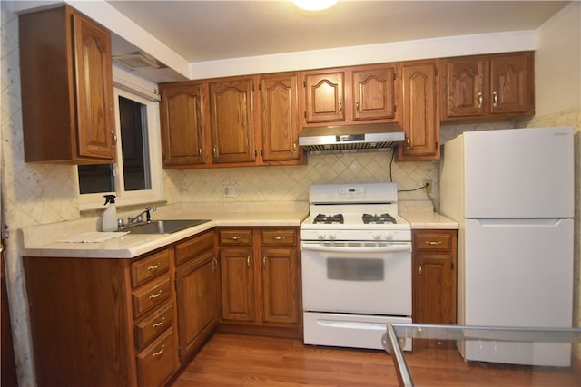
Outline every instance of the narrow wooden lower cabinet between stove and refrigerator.
[(456, 324), (457, 230), (412, 230), (415, 324)]

